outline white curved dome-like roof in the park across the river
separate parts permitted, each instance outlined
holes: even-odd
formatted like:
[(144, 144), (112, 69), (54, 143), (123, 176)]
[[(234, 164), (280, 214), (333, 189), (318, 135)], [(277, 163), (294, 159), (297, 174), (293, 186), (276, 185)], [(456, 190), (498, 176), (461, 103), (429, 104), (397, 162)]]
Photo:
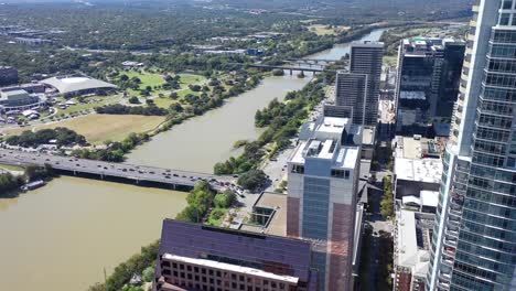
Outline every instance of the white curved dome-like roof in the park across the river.
[(117, 88), (116, 85), (84, 75), (57, 76), (44, 79), (41, 83), (57, 89), (61, 94), (99, 88)]

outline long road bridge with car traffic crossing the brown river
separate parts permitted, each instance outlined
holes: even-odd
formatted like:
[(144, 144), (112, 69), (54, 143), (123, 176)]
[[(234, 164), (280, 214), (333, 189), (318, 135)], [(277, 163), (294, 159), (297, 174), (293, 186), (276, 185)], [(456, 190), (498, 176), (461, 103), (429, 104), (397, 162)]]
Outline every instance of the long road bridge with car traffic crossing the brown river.
[(29, 164), (50, 164), (60, 174), (131, 183), (141, 186), (158, 186), (178, 191), (190, 191), (201, 181), (209, 182), (214, 190), (222, 191), (235, 181), (233, 176), (219, 176), (181, 170), (103, 162), (4, 149), (0, 149), (0, 163), (20, 166)]

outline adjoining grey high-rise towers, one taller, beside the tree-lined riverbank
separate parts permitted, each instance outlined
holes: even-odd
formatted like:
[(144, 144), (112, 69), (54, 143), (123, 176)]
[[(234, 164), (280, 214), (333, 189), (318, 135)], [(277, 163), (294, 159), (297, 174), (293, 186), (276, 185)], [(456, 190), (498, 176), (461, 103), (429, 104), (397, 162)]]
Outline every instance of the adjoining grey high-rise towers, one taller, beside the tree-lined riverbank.
[(381, 78), (384, 43), (354, 42), (351, 45), (350, 72), (338, 72), (335, 105), (353, 117), (354, 125), (376, 126)]

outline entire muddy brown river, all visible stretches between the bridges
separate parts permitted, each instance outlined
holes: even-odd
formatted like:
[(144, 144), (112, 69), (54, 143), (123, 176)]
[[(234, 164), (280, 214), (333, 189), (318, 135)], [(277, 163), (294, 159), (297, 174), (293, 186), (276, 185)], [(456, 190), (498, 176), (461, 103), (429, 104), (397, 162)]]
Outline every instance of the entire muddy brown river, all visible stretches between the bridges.
[[(375, 31), (364, 40), (375, 41)], [(348, 44), (307, 56), (337, 60)], [(208, 172), (256, 139), (257, 109), (309, 78), (267, 77), (202, 117), (190, 119), (136, 149), (129, 162)], [(85, 290), (159, 238), (161, 220), (184, 208), (186, 193), (110, 182), (60, 177), (15, 198), (0, 198), (0, 290)]]

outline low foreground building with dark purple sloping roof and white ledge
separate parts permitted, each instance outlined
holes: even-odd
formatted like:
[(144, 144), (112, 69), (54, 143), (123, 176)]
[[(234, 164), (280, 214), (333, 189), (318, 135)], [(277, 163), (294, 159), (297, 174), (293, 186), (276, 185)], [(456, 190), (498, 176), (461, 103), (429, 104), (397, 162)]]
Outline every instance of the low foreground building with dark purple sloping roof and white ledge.
[(316, 291), (311, 244), (165, 219), (155, 291)]

